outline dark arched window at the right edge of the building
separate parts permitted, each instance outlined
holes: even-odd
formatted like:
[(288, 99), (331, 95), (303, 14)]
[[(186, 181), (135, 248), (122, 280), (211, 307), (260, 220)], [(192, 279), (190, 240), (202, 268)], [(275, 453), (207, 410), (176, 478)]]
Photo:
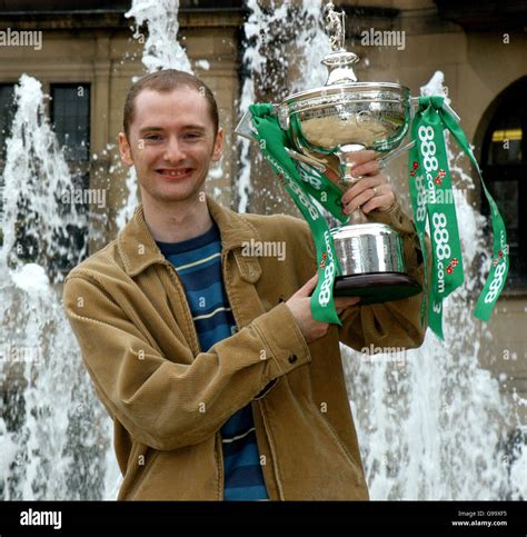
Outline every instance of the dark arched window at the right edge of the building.
[[(491, 105), (481, 146), (481, 169), (507, 227), (510, 270), (506, 289), (527, 290), (527, 77)], [(489, 212), (481, 199), (481, 211)]]

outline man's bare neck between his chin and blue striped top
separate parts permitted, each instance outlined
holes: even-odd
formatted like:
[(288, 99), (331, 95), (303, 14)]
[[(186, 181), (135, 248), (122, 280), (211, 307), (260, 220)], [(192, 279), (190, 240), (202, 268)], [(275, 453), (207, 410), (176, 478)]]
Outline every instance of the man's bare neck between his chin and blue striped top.
[(181, 242), (203, 235), (212, 226), (207, 202), (199, 197), (191, 200), (159, 202), (142, 197), (145, 220), (155, 240)]

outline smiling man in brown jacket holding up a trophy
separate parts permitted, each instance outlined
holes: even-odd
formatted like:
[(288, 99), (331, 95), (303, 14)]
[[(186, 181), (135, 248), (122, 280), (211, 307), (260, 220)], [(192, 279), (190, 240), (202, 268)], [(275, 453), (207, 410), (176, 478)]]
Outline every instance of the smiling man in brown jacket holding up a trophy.
[[(142, 203), (117, 240), (76, 267), (64, 308), (115, 422), (119, 499), (367, 499), (339, 340), (416, 347), (420, 298), (312, 319), (314, 242), (288, 216), (238, 215), (203, 195), (223, 132), (210, 90), (176, 70), (132, 86), (119, 145)], [(411, 221), (372, 152), (342, 197), (404, 237)], [(282, 242), (285, 259), (243, 245)]]

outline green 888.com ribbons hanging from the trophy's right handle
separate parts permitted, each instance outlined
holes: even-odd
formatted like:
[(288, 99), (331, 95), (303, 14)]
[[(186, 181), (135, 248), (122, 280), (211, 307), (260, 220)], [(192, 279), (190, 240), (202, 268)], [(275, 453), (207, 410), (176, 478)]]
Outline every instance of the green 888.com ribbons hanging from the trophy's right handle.
[[(422, 251), (426, 225), (430, 229), (432, 270), (428, 300), (428, 324), (443, 339), (443, 300), (464, 281), (461, 247), (451, 189), (451, 177), (445, 147), (444, 129), (447, 128), (478, 171), (481, 186), (491, 210), (495, 237), (494, 260), (489, 275), (476, 304), (475, 316), (488, 320), (505, 286), (508, 272), (508, 246), (505, 225), (498, 207), (481, 178), (476, 158), (465, 132), (453, 115), (443, 106), (443, 97), (421, 97), (411, 125), (411, 139), (416, 141), (409, 157), (410, 198), (416, 229)], [(499, 240), (496, 240), (499, 238)], [(425, 256), (425, 275), (428, 274)], [(427, 277), (425, 276), (427, 279)], [(428, 282), (425, 281), (426, 287)], [(421, 306), (421, 319), (426, 310)]]

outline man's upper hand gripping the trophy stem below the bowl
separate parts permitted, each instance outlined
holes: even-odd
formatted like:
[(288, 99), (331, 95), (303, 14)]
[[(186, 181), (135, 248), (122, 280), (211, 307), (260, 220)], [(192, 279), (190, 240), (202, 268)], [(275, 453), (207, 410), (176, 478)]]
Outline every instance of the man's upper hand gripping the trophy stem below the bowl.
[(395, 202), (395, 195), (385, 176), (380, 173), (376, 151), (364, 150), (354, 153), (354, 177), (362, 177), (342, 195), (342, 212), (351, 215), (358, 207), (366, 215), (374, 209), (388, 210)]

